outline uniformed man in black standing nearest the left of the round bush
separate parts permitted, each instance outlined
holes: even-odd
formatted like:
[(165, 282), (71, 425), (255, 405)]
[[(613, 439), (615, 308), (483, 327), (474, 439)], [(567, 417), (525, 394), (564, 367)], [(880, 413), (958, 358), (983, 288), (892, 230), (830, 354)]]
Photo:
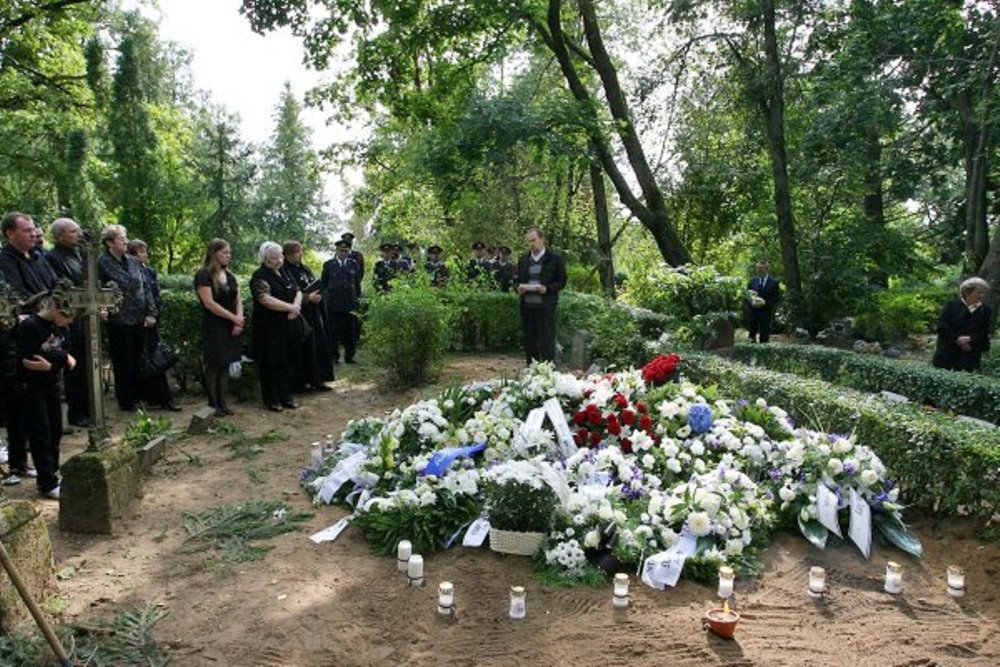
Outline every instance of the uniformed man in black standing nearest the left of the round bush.
[(323, 264), (320, 290), (326, 302), (327, 321), (330, 325), (330, 349), (333, 361), (340, 359), (344, 348), (344, 361), (354, 363), (357, 345), (356, 312), (358, 310), (358, 268), (350, 257), (350, 243), (341, 239), (335, 244), (337, 256)]

